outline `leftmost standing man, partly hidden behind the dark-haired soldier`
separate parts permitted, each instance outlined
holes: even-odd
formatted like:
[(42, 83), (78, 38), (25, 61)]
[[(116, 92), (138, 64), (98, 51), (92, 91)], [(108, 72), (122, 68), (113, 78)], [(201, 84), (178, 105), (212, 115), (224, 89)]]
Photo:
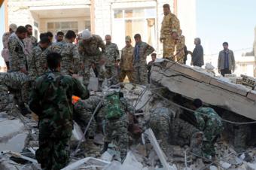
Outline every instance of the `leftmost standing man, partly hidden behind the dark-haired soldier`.
[(8, 70), (10, 69), (10, 66), (9, 66), (8, 38), (10, 37), (10, 35), (12, 33), (16, 32), (16, 30), (17, 30), (17, 25), (12, 23), (9, 26), (9, 32), (5, 32), (5, 34), (2, 37), (3, 46), (4, 46), (4, 49), (2, 50), (2, 57), (5, 59), (5, 64), (6, 64), (6, 67), (7, 67)]

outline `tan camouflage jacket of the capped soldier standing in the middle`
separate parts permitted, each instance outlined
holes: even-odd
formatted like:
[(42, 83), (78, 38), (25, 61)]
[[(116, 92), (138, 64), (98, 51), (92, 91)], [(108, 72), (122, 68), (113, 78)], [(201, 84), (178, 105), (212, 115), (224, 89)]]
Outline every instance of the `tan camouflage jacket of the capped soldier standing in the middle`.
[(121, 51), (120, 69), (124, 71), (133, 70), (133, 50), (134, 47), (123, 47)]

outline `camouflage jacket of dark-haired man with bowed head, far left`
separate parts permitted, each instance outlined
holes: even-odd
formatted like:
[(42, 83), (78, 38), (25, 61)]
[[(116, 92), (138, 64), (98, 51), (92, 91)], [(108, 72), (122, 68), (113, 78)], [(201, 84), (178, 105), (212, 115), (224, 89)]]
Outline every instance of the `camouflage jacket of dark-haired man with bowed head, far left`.
[(10, 71), (20, 71), (27, 68), (26, 53), (23, 41), (12, 34), (8, 40)]

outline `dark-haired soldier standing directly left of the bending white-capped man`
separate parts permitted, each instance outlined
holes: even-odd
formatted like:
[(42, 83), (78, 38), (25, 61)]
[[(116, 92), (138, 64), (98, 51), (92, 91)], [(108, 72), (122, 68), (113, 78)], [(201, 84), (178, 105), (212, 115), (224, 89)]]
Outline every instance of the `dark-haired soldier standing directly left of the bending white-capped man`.
[(73, 44), (77, 35), (69, 30), (66, 35), (66, 43), (62, 45), (61, 71), (64, 74), (75, 74), (75, 68), (80, 66), (80, 56), (77, 45)]

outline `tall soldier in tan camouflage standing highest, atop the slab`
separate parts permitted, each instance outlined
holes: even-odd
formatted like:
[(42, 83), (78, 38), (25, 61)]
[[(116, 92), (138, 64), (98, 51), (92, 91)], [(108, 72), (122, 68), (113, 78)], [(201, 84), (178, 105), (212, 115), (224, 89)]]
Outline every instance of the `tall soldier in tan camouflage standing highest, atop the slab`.
[(169, 5), (163, 5), (163, 22), (161, 27), (160, 42), (163, 42), (163, 58), (175, 61), (175, 39), (180, 33), (180, 24), (175, 14), (171, 13)]

